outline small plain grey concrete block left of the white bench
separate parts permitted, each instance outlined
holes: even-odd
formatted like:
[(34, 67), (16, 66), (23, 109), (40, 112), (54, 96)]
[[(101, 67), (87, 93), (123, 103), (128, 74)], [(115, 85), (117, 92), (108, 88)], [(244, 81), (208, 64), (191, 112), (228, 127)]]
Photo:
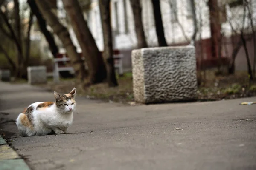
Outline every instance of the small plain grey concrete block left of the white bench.
[(28, 83), (30, 85), (47, 83), (46, 66), (28, 67), (27, 71), (28, 71)]

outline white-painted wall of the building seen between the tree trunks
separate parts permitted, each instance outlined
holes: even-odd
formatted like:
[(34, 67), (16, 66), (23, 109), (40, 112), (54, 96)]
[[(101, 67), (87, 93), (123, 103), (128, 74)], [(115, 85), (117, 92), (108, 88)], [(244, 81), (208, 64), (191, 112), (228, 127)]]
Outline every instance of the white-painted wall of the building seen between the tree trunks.
[[(126, 1), (126, 11), (127, 17), (124, 14), (124, 1)], [(168, 1), (173, 2), (174, 0), (160, 0), (160, 7), (162, 12), (162, 20), (163, 27), (165, 31), (165, 37), (168, 44), (182, 43), (186, 42), (186, 38), (181, 31), (181, 27), (183, 27), (185, 35), (187, 38), (193, 34), (193, 23), (191, 12), (189, 11), (189, 0), (176, 0), (176, 11), (178, 22), (173, 20), (173, 10), (170, 7), (170, 3)], [(254, 17), (254, 25), (256, 25), (256, 0), (253, 0), (253, 17)], [(117, 11), (115, 8), (115, 4), (117, 6)], [(146, 40), (149, 46), (157, 46), (157, 35), (154, 27), (154, 14), (153, 8), (151, 4), (151, 0), (141, 0), (142, 6), (142, 16), (143, 16), (143, 26), (145, 31)], [(198, 29), (201, 31), (201, 38), (209, 38), (210, 37), (210, 28), (209, 28), (209, 8), (205, 0), (195, 0), (196, 7), (196, 17), (198, 20)], [(63, 4), (61, 0), (58, 0), (58, 17), (66, 17), (66, 14), (63, 9)], [(242, 8), (234, 7), (227, 9), (227, 16), (230, 18), (231, 22), (236, 28), (241, 26), (241, 16), (242, 16)], [(116, 17), (117, 14), (117, 17)], [(87, 15), (87, 14), (84, 14)], [(239, 18), (240, 17), (240, 18)], [(116, 21), (116, 18), (118, 21)], [(102, 25), (100, 19), (100, 11), (98, 6), (98, 0), (93, 0), (91, 4), (91, 10), (87, 15), (88, 26), (90, 31), (93, 34), (93, 37), (96, 41), (96, 44), (99, 50), (103, 50), (103, 35), (102, 35)], [(125, 32), (125, 20), (128, 23), (128, 32)], [(67, 25), (67, 23), (64, 23)], [(246, 26), (248, 26), (248, 21), (246, 21)], [(199, 26), (201, 25), (201, 26)], [(113, 29), (113, 46), (116, 49), (120, 50), (128, 50), (136, 48), (137, 46), (137, 38), (134, 31), (134, 19), (133, 13), (131, 9), (130, 0), (111, 0), (111, 26)], [(74, 45), (77, 47), (77, 51), (81, 51), (79, 47), (79, 43), (76, 39), (76, 36), (73, 32), (71, 26), (68, 26), (71, 39)], [(231, 34), (230, 24), (228, 22), (222, 24), (222, 28), (225, 30), (224, 34), (229, 36)], [(119, 30), (118, 34), (116, 34), (116, 30)], [(199, 35), (197, 35), (197, 39), (199, 39)], [(43, 36), (41, 36), (43, 37)], [(44, 44), (46, 42), (44, 41)], [(47, 44), (45, 44), (47, 45)], [(62, 52), (65, 52), (64, 49), (61, 49)]]

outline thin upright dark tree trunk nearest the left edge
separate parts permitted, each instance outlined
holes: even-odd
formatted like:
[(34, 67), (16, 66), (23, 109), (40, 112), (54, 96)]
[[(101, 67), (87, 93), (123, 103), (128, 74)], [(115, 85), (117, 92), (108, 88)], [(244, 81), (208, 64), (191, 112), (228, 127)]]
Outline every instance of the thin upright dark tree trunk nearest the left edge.
[(20, 25), (20, 4), (18, 0), (14, 0), (14, 16), (15, 16), (15, 28), (16, 37), (20, 45), (20, 51), (17, 51), (18, 56), (18, 72), (17, 76), (20, 77), (23, 74), (24, 59), (23, 59), (23, 49), (22, 49), (22, 35), (21, 35), (21, 25)]

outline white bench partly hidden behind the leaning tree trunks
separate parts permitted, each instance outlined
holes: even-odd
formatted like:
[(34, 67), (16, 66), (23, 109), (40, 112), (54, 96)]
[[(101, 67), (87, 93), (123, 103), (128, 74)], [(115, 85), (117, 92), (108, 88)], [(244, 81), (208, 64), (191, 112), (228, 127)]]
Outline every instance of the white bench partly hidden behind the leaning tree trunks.
[[(122, 57), (123, 54), (114, 54), (114, 67), (118, 69), (119, 76), (123, 75), (123, 68), (122, 68)], [(84, 57), (81, 58), (84, 60)], [(54, 68), (53, 68), (53, 81), (54, 82), (59, 82), (59, 72), (60, 71), (69, 71), (71, 74), (75, 74), (75, 70), (73, 67), (70, 66), (64, 66), (60, 67), (58, 62), (69, 62), (70, 58), (66, 57), (66, 54), (63, 54), (62, 58), (54, 58)]]

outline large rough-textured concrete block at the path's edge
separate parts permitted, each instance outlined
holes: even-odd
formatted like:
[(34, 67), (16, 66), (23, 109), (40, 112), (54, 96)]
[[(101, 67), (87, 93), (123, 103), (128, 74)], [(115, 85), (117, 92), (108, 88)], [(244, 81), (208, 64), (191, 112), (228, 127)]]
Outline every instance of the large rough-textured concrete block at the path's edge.
[(194, 46), (133, 50), (133, 91), (136, 102), (158, 103), (197, 98)]

